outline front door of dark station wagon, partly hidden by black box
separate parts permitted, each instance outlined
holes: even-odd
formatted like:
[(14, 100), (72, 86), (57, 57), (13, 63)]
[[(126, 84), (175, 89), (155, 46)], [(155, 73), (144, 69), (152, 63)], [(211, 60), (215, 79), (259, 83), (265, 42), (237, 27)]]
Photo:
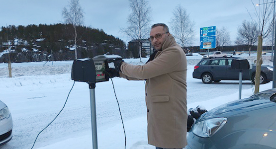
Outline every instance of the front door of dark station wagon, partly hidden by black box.
[[(229, 79), (233, 79), (233, 80), (238, 80), (240, 77), (240, 70), (236, 70), (236, 69), (232, 69), (231, 68), (231, 63), (232, 63), (233, 59), (227, 59), (227, 77)], [(243, 80), (245, 79), (249, 79), (249, 71), (248, 70), (242, 70), (243, 72)]]

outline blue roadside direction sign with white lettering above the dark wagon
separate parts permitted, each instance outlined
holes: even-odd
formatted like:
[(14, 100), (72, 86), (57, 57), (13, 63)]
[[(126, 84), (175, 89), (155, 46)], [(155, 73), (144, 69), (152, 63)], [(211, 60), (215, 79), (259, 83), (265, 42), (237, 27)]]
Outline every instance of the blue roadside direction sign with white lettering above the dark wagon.
[(200, 28), (200, 49), (216, 48), (216, 26)]

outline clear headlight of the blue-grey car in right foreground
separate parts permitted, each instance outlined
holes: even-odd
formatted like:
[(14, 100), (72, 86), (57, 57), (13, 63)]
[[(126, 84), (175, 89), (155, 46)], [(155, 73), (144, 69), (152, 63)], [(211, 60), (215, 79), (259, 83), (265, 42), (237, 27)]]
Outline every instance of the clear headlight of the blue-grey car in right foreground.
[(220, 130), (227, 122), (226, 117), (207, 119), (195, 123), (192, 129), (193, 134), (199, 137), (208, 138)]

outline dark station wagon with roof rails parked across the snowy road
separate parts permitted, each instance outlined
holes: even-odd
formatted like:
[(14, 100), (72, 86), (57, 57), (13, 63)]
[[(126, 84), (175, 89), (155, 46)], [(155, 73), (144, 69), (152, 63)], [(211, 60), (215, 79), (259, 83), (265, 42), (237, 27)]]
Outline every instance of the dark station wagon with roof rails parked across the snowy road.
[[(207, 58), (201, 59), (194, 66), (192, 73), (193, 78), (201, 79), (203, 83), (209, 84), (219, 82), (221, 80), (239, 80), (240, 70), (232, 69), (231, 63), (233, 60), (246, 60), (238, 57), (222, 57), (222, 58)], [(250, 64), (249, 70), (243, 70), (242, 80), (252, 80), (255, 84), (256, 65)], [(265, 84), (273, 79), (273, 66), (262, 65), (260, 84)]]

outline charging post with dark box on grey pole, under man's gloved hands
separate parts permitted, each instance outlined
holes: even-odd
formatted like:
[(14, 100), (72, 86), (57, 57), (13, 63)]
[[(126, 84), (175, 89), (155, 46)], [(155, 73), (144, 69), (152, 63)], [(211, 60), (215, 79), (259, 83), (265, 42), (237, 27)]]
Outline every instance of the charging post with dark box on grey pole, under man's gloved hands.
[(121, 59), (118, 55), (95, 56), (93, 59), (74, 60), (71, 71), (71, 78), (75, 81), (87, 82), (90, 89), (91, 103), (91, 125), (92, 125), (92, 147), (97, 147), (97, 123), (96, 123), (96, 104), (95, 87), (96, 82), (108, 81), (109, 76), (104, 74), (108, 69), (108, 63), (115, 59)]

